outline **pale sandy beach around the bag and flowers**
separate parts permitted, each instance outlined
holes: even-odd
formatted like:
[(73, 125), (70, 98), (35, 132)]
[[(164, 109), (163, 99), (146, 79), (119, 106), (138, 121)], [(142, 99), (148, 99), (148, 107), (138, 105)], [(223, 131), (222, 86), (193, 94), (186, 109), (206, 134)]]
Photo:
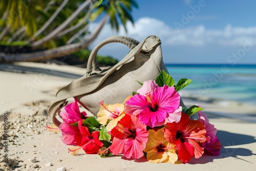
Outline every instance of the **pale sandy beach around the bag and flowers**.
[(69, 146), (61, 142), (61, 133), (46, 130), (46, 124), (52, 124), (47, 111), (58, 89), (85, 72), (51, 63), (0, 64), (0, 170), (255, 170), (256, 106), (199, 99), (186, 90), (180, 92), (184, 103), (205, 108), (217, 128), (223, 143), (220, 156), (205, 153), (186, 164), (154, 164), (144, 158), (124, 160), (123, 156), (100, 158), (83, 151), (72, 156)]

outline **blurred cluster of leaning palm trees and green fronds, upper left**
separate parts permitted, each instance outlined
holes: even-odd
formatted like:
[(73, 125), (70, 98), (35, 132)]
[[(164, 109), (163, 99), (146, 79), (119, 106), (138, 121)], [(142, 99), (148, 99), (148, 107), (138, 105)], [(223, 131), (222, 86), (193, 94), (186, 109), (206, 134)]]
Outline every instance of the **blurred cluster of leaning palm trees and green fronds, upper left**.
[[(0, 63), (82, 54), (106, 23), (133, 23), (134, 0), (10, 0), (0, 2)], [(97, 28), (89, 32), (90, 24)]]

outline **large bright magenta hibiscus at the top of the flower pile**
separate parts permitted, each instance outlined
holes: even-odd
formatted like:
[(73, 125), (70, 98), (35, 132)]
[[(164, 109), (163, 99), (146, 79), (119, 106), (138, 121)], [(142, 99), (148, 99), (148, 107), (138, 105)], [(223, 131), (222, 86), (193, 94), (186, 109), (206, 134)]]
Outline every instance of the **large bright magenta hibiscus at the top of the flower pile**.
[(159, 87), (154, 80), (143, 82), (138, 93), (126, 101), (124, 112), (138, 115), (140, 121), (150, 127), (163, 125), (169, 113), (174, 113), (180, 105), (180, 96), (174, 87)]

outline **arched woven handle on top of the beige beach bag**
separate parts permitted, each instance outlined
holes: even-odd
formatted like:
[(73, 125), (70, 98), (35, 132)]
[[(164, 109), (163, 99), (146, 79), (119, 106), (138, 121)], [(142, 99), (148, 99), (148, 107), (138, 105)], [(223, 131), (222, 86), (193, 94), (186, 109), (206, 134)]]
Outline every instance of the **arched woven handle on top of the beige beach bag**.
[(89, 56), (88, 63), (87, 63), (86, 76), (89, 76), (93, 70), (101, 71), (101, 69), (98, 66), (98, 62), (97, 62), (97, 58), (96, 58), (97, 53), (100, 50), (100, 48), (102, 48), (104, 45), (110, 44), (112, 42), (120, 42), (121, 44), (124, 44), (127, 47), (129, 47), (130, 50), (132, 50), (139, 44), (139, 41), (137, 41), (131, 37), (126, 37), (126, 36), (113, 36), (113, 37), (109, 37), (109, 38), (103, 40), (102, 42), (100, 42), (100, 44), (98, 44), (92, 50), (92, 52)]

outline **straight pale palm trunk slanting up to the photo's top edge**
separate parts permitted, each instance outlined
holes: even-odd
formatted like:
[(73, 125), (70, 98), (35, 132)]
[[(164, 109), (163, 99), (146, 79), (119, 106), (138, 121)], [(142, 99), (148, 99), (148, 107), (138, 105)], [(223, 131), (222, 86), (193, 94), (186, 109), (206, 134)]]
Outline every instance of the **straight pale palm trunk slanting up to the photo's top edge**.
[(76, 11), (65, 21), (63, 22), (59, 27), (57, 27), (56, 29), (54, 29), (51, 33), (49, 33), (47, 36), (34, 41), (31, 43), (31, 47), (33, 49), (38, 48), (39, 46), (41, 46), (42, 44), (44, 44), (45, 42), (49, 41), (50, 39), (56, 37), (56, 35), (62, 31), (63, 29), (65, 29), (71, 22), (73, 22), (73, 19), (75, 17), (77, 17), (77, 15), (79, 15), (79, 13), (86, 8), (89, 4), (90, 4), (91, 0), (87, 0), (84, 3), (82, 3), (77, 9)]

